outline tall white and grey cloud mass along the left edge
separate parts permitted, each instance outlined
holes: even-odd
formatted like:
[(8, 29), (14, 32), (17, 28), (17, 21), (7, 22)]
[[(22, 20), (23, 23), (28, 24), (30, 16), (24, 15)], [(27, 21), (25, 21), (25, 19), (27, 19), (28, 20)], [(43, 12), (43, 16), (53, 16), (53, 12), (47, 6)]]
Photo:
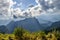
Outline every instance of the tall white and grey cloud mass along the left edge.
[(16, 4), (12, 0), (0, 0), (0, 19), (11, 18), (11, 7)]

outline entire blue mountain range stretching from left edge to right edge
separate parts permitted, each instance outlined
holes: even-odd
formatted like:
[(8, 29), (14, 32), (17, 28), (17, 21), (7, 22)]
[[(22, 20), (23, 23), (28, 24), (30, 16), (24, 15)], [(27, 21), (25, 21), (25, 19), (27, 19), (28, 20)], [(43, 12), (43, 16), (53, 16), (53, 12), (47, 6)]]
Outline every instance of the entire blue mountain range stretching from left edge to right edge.
[[(51, 24), (51, 25), (49, 25), (49, 24)], [(53, 22), (53, 23), (48, 22), (46, 24), (40, 24), (39, 21), (35, 17), (26, 18), (24, 20), (18, 20), (18, 21), (12, 20), (7, 25), (1, 25), (0, 32), (12, 33), (14, 31), (14, 29), (17, 27), (22, 27), (31, 32), (45, 30), (45, 29), (49, 30), (54, 27), (60, 28), (60, 21)]]

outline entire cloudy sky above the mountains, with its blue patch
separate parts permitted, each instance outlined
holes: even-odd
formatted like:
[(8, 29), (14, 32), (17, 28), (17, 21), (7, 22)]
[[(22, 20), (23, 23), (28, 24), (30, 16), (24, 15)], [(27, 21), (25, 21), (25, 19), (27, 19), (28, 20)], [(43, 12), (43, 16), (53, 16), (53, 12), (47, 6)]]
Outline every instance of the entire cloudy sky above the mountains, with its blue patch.
[(0, 0), (0, 20), (29, 17), (60, 20), (60, 0)]

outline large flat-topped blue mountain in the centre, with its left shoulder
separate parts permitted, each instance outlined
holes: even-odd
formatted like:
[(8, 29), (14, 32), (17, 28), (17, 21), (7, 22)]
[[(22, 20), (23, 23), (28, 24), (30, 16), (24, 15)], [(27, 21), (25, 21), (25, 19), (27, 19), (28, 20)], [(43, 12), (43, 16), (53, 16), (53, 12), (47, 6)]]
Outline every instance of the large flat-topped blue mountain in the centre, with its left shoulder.
[(42, 25), (40, 25), (40, 23), (35, 17), (26, 18), (24, 20), (19, 21), (11, 21), (9, 24), (6, 25), (6, 27), (8, 28), (9, 33), (12, 33), (16, 27), (22, 27), (31, 32), (43, 29)]

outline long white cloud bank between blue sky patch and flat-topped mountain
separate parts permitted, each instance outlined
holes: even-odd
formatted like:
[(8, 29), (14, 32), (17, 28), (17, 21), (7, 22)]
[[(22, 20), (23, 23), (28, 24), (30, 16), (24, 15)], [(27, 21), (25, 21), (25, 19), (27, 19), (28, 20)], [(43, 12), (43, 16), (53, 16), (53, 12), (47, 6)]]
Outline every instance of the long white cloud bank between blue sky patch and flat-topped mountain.
[(25, 11), (21, 11), (20, 8), (15, 8), (12, 9), (12, 15), (15, 15), (15, 17), (22, 17), (22, 18), (29, 18), (29, 17), (35, 17), (40, 15), (41, 13), (41, 9), (39, 5), (33, 6), (33, 7), (29, 7), (27, 10)]

